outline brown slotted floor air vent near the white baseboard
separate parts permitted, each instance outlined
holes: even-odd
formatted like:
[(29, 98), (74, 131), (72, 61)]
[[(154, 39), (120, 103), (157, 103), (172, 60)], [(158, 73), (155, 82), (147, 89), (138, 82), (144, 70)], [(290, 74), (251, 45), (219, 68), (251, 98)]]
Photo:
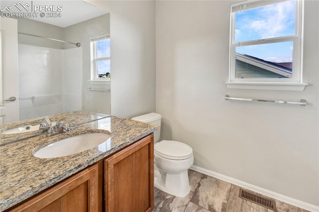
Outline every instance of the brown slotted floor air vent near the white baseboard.
[(277, 212), (276, 202), (274, 200), (264, 198), (260, 195), (253, 194), (251, 192), (244, 191), (242, 189), (239, 190), (239, 197), (244, 200), (248, 200), (252, 203), (255, 203), (257, 205), (260, 205), (262, 207), (265, 207), (267, 209), (270, 209), (274, 212)]

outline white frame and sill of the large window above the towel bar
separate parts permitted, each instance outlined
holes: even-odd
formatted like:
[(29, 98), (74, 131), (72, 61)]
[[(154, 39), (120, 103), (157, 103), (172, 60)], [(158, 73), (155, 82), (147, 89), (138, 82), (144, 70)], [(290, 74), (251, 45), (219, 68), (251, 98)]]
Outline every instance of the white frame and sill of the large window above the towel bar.
[[(285, 90), (303, 91), (308, 85), (302, 79), (303, 56), (303, 0), (296, 0), (296, 27), (295, 35), (265, 38), (235, 42), (235, 13), (278, 3), (284, 0), (245, 0), (231, 4), (230, 18), (230, 50), (229, 50), (229, 81), (226, 83), (230, 89), (258, 89), (258, 90)], [(271, 44), (276, 42), (292, 41), (293, 44), (293, 76), (292, 78), (235, 78), (236, 47)]]

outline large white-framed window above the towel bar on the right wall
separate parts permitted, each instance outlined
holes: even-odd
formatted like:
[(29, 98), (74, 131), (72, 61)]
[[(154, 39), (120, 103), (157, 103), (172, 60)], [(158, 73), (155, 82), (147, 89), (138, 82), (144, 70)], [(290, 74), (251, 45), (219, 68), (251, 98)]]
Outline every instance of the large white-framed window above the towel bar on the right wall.
[(231, 5), (228, 88), (304, 90), (302, 6), (302, 0)]

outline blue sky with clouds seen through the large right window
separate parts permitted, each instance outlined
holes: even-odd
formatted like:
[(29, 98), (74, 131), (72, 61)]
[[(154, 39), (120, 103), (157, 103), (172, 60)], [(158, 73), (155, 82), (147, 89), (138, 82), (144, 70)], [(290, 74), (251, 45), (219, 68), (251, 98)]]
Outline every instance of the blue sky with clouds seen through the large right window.
[[(295, 35), (295, 0), (236, 12), (235, 42)], [(293, 42), (272, 43), (236, 48), (272, 62), (292, 62)]]

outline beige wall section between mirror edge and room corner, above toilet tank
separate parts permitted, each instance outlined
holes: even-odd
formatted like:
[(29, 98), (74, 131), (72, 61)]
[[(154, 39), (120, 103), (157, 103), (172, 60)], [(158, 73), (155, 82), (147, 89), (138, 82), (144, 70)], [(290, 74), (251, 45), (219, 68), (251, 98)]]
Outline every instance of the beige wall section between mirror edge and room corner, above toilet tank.
[(111, 114), (155, 111), (155, 1), (86, 1), (110, 12)]

